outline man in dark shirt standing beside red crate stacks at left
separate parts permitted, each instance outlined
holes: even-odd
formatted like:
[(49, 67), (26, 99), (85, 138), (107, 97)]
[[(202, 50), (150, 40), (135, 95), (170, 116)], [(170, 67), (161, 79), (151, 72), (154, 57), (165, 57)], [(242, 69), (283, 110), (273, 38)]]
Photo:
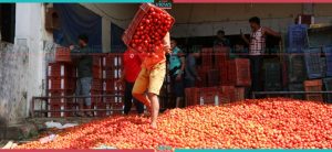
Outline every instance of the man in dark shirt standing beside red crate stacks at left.
[[(89, 37), (86, 35), (79, 36), (79, 47), (71, 46), (72, 57), (77, 61), (77, 87), (76, 96), (90, 96), (92, 83), (92, 55), (89, 54), (91, 50), (87, 46)], [(86, 109), (92, 109), (91, 98), (85, 98)], [(82, 108), (83, 106), (80, 106)], [(81, 116), (82, 113), (77, 113)], [(86, 112), (89, 117), (91, 112)]]

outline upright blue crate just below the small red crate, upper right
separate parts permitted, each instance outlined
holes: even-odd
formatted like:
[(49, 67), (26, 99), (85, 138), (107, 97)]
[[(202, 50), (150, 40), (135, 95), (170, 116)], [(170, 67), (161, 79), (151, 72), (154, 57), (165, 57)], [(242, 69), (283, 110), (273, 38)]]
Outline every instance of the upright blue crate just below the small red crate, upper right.
[(303, 53), (303, 48), (309, 46), (308, 25), (293, 24), (288, 29), (288, 53)]

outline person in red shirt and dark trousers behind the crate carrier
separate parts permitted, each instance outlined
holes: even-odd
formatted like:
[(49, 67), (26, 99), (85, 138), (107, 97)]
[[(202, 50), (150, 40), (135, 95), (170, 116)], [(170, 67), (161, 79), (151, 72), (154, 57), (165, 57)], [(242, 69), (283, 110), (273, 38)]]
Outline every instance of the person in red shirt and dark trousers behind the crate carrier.
[(141, 65), (144, 61), (144, 56), (139, 53), (136, 53), (132, 50), (127, 50), (123, 55), (124, 69), (122, 77), (116, 82), (116, 85), (120, 86), (123, 83), (125, 84), (125, 96), (124, 96), (124, 113), (128, 115), (132, 109), (132, 104), (134, 101), (138, 116), (144, 113), (144, 105), (137, 99), (133, 98), (132, 91), (135, 84), (135, 80), (141, 72)]

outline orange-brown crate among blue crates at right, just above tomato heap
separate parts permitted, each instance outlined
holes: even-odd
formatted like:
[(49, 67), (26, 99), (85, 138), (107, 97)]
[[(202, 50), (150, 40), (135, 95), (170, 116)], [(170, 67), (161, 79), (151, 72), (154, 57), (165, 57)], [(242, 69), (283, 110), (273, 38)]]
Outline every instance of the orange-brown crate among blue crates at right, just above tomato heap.
[[(305, 91), (322, 91), (322, 80), (315, 79), (315, 80), (305, 80), (304, 82), (304, 90)], [(313, 100), (313, 101), (323, 101), (322, 94), (308, 94), (305, 95), (307, 100)]]

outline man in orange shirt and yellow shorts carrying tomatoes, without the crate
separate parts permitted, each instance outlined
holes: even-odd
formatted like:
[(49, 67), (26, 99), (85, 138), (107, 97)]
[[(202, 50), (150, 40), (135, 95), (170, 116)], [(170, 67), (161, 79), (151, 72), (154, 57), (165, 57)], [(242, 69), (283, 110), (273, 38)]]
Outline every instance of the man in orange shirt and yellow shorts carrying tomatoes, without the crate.
[(152, 110), (151, 127), (154, 129), (157, 128), (157, 117), (159, 113), (158, 95), (166, 75), (166, 54), (172, 52), (168, 32), (163, 41), (164, 47), (155, 48), (154, 53), (149, 53), (145, 57), (142, 70), (133, 88), (133, 96), (145, 104), (147, 109)]

